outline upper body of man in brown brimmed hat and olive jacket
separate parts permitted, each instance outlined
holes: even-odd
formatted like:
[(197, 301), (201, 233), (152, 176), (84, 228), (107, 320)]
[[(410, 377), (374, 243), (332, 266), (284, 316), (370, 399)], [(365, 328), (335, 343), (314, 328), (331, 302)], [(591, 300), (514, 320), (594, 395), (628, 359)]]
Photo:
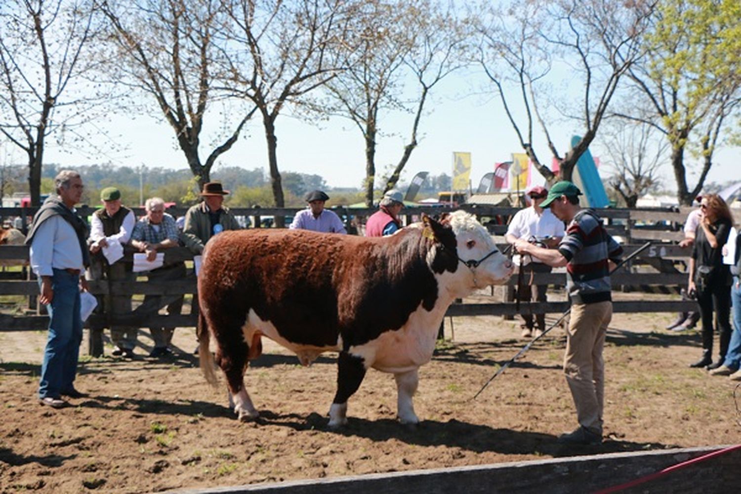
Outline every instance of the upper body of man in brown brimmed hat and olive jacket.
[(200, 196), (203, 201), (191, 206), (185, 213), (185, 226), (180, 236), (185, 247), (193, 254), (203, 253), (203, 247), (209, 238), (224, 230), (239, 230), (239, 223), (229, 208), (225, 207), (224, 196), (229, 194), (221, 182), (213, 181), (203, 184)]

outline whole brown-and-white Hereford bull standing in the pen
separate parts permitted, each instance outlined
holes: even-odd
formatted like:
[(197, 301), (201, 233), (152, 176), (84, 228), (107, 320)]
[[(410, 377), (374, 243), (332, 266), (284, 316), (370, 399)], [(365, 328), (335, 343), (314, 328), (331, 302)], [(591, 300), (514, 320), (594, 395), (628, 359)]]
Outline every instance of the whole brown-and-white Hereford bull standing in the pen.
[(399, 420), (416, 424), (419, 366), (432, 358), (455, 298), (502, 284), (512, 263), (473, 216), (456, 211), (383, 238), (307, 230), (227, 231), (211, 238), (199, 273), (199, 357), (215, 384), (209, 341), (239, 419), (259, 414), (245, 389), (261, 337), (303, 365), (339, 352), (330, 427), (347, 423), (348, 398), (369, 367), (396, 378)]

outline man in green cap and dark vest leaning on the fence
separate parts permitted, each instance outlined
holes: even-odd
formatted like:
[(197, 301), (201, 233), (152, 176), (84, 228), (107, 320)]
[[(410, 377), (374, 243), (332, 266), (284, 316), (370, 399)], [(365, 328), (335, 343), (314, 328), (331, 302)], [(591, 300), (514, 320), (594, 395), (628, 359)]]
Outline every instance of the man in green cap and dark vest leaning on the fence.
[[(110, 264), (103, 255), (104, 248), (112, 244), (128, 244), (136, 223), (132, 210), (121, 205), (121, 191), (116, 187), (106, 187), (100, 192), (103, 208), (93, 213), (90, 220), (90, 269), (88, 280), (136, 281), (131, 272), (131, 263), (123, 258)], [(109, 293), (99, 297), (99, 307), (106, 313), (119, 315), (131, 312), (131, 296)], [(133, 358), (138, 328), (111, 324), (110, 341), (116, 347), (113, 356)]]

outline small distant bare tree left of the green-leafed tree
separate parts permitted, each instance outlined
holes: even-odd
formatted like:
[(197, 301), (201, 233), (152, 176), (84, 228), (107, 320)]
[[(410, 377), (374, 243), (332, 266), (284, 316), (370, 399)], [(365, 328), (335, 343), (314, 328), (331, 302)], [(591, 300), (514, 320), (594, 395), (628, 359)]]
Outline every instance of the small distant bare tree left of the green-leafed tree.
[(611, 167), (610, 185), (625, 201), (627, 207), (636, 207), (638, 198), (654, 190), (659, 184), (659, 167), (668, 151), (668, 142), (654, 127), (631, 121), (613, 120), (602, 127), (602, 144)]

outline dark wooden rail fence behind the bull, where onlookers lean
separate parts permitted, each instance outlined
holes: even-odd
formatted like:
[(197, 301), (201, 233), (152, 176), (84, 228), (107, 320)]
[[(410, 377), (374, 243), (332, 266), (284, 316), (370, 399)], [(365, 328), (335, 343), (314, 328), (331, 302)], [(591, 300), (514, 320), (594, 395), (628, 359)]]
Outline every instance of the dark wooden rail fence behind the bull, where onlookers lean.
[[(502, 235), (506, 230), (506, 221), (516, 212), (514, 208), (505, 207), (475, 207), (467, 205), (463, 209), (475, 214), (482, 223), (486, 224), (494, 236)], [(253, 218), (253, 224), (263, 224), (262, 218), (266, 216), (274, 217), (279, 215), (290, 216), (295, 214), (298, 209), (276, 209), (276, 208), (234, 208), (233, 213), (241, 216), (250, 216)], [(446, 209), (440, 207), (422, 207), (408, 208), (405, 210), (407, 221), (418, 216), (421, 213), (439, 214)], [(373, 210), (360, 209), (348, 210), (346, 208), (337, 208), (336, 211), (341, 215), (350, 226), (351, 222), (356, 221), (359, 216), (367, 216), (373, 213)], [(24, 215), (30, 216), (35, 210), (30, 208), (2, 208), (0, 217), (9, 217)], [(90, 208), (80, 208), (82, 216), (87, 216), (93, 212)], [(142, 214), (142, 210), (136, 211)], [(173, 216), (185, 213), (183, 209), (168, 210)], [(612, 276), (612, 284), (615, 289), (622, 287), (679, 287), (687, 283), (687, 275), (682, 272), (682, 263), (689, 255), (688, 249), (682, 249), (674, 244), (674, 241), (683, 238), (679, 226), (684, 221), (688, 210), (619, 210), (606, 209), (598, 210), (598, 214), (608, 221), (608, 229), (614, 235), (622, 236), (628, 242), (625, 247), (625, 255), (629, 255), (636, 250), (640, 244), (645, 241), (654, 241), (647, 250), (631, 261), (631, 267), (626, 267), (619, 273)], [(505, 246), (500, 245), (503, 249)], [(131, 254), (128, 253), (128, 256)], [(1, 246), (0, 259), (27, 259), (28, 248), (25, 246)], [(185, 247), (173, 248), (165, 251), (165, 264), (174, 262), (187, 261), (193, 256)], [(648, 264), (657, 268), (657, 272), (635, 271), (639, 264)], [(679, 269), (675, 266), (677, 264)], [(665, 269), (669, 267), (671, 269)], [(660, 272), (663, 270), (665, 272)], [(642, 270), (645, 271), (645, 270)], [(0, 296), (27, 296), (33, 300), (39, 293), (38, 281), (34, 279), (20, 279), (19, 276), (10, 276), (10, 279), (0, 280)], [(29, 276), (28, 278), (33, 278)], [(565, 275), (563, 273), (536, 274), (533, 284), (564, 284)], [(513, 276), (508, 282), (508, 287), (514, 287), (517, 283), (517, 277)], [(492, 291), (494, 292), (494, 290)], [(144, 281), (131, 282), (109, 282), (109, 281), (91, 281), (90, 293), (94, 295), (106, 295), (116, 293), (120, 295), (161, 295), (161, 307), (172, 301), (176, 296), (183, 294), (196, 293), (196, 276), (193, 270), (185, 278), (179, 281), (167, 281), (166, 283), (155, 283)], [(518, 313), (516, 304), (510, 301), (508, 290), (503, 290), (504, 296), (497, 297), (499, 300), (491, 303), (479, 304), (453, 304), (446, 314), (447, 316), (515, 316)], [(44, 330), (48, 324), (48, 316), (43, 316), (38, 312), (34, 313), (33, 303), (30, 304), (31, 313), (28, 315), (17, 316), (11, 314), (0, 314), (0, 330), (11, 331), (36, 331)], [(615, 312), (677, 312), (682, 310), (691, 310), (694, 307), (693, 301), (681, 300), (645, 300), (641, 292), (636, 292), (636, 298), (629, 301), (616, 301), (614, 303)], [(519, 312), (527, 310), (530, 313), (563, 313), (568, 309), (566, 301), (550, 301), (546, 303), (531, 303), (527, 307), (520, 307)], [(136, 308), (128, 314), (93, 314), (87, 320), (87, 327), (109, 327), (110, 324), (136, 325), (139, 327), (150, 326), (169, 326), (169, 327), (195, 327), (196, 313), (182, 314), (179, 316), (159, 315), (159, 307), (142, 307)], [(102, 352), (102, 343), (99, 332), (90, 332), (91, 338), (97, 341), (90, 342), (90, 350), (93, 355)], [(98, 333), (97, 335), (95, 333)]]

